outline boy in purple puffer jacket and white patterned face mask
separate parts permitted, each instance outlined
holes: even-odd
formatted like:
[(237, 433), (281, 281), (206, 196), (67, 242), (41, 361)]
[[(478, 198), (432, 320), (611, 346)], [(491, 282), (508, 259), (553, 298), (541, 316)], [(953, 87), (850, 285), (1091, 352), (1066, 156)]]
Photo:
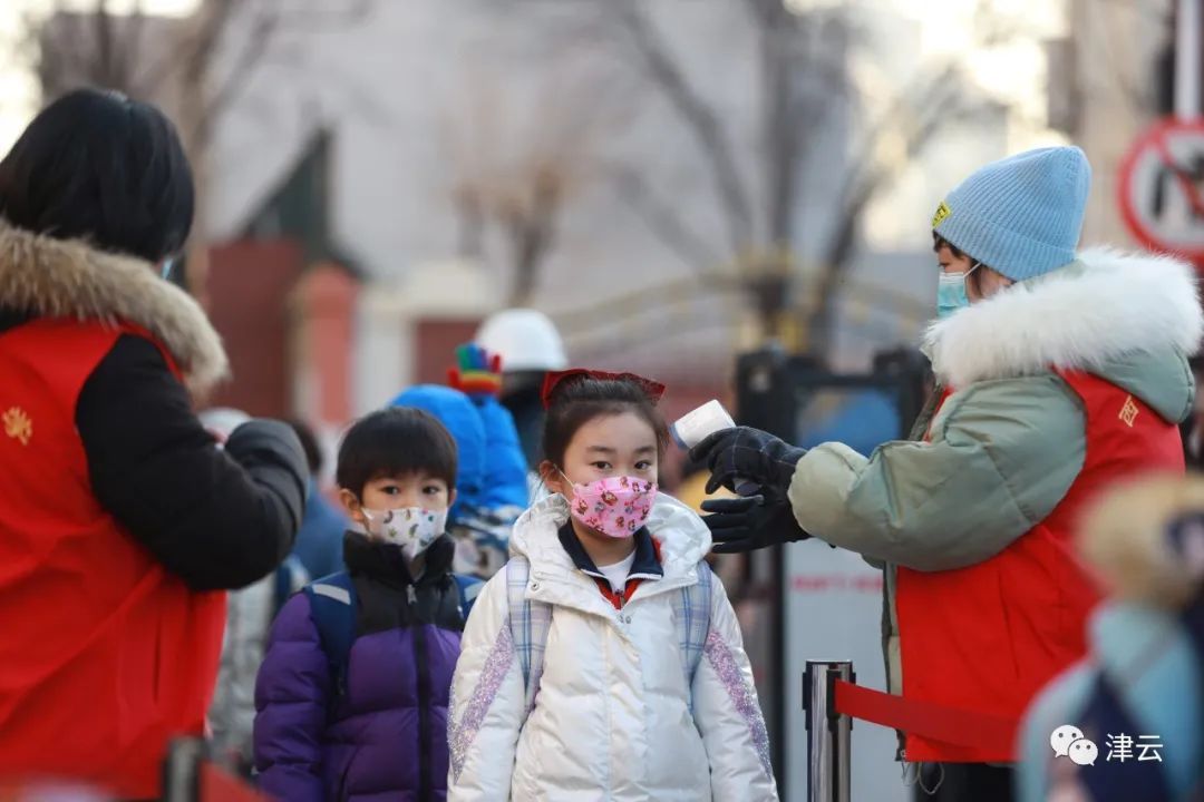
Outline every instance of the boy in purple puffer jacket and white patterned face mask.
[(338, 452), (347, 571), (293, 596), (256, 688), (260, 788), (282, 800), (442, 798), (448, 694), (479, 582), (444, 534), (456, 447), (431, 415), (373, 412)]

